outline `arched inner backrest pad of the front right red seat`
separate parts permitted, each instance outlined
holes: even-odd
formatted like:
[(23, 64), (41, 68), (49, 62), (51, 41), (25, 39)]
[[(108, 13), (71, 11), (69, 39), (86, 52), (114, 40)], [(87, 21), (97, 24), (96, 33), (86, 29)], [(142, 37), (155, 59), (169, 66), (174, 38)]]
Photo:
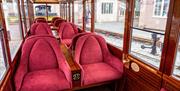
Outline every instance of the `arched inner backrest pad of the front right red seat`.
[(90, 36), (82, 47), (80, 63), (90, 64), (102, 61), (103, 56), (99, 42), (93, 36)]

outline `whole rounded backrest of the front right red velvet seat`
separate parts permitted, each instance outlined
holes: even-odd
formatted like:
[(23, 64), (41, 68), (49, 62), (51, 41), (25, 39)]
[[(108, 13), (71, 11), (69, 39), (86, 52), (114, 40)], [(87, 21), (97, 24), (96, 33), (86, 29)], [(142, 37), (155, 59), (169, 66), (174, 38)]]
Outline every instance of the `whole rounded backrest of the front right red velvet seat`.
[(102, 62), (105, 55), (104, 49), (102, 50), (104, 46), (107, 46), (105, 40), (98, 35), (84, 35), (77, 40), (75, 60), (81, 65)]

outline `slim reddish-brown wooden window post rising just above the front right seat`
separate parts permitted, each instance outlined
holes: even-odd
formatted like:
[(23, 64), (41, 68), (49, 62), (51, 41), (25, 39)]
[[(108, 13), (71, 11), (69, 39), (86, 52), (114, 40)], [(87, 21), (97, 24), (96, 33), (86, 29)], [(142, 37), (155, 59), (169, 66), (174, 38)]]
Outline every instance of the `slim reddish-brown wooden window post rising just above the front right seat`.
[(94, 32), (94, 18), (95, 18), (95, 2), (94, 0), (91, 0), (91, 32), (93, 33)]

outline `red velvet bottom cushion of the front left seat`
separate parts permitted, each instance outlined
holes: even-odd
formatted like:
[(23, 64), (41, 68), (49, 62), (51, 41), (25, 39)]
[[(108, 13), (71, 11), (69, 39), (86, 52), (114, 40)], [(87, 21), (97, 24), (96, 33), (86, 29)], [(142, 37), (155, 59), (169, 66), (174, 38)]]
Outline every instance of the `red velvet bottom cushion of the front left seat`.
[(59, 69), (34, 71), (26, 75), (21, 91), (59, 91), (70, 88)]

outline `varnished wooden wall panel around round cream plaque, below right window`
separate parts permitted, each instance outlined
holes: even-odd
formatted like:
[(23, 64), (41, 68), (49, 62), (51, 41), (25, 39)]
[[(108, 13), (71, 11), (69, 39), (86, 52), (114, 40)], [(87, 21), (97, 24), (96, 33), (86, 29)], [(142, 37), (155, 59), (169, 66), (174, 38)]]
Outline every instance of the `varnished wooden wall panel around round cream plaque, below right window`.
[[(154, 68), (145, 65), (142, 62), (128, 57), (130, 65), (136, 63), (139, 71), (135, 72), (131, 66), (125, 67), (126, 72), (126, 89), (124, 91), (159, 91), (161, 88), (162, 73)], [(136, 89), (136, 90), (135, 90)]]

